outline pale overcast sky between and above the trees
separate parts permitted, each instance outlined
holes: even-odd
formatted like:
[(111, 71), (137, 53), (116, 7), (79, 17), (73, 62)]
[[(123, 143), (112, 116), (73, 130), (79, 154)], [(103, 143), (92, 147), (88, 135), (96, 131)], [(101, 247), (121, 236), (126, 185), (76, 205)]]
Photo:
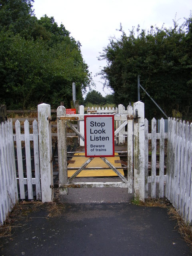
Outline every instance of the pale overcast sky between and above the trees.
[[(83, 58), (92, 72), (95, 90), (103, 96), (110, 90), (102, 89), (102, 80), (95, 76), (105, 61), (97, 57), (109, 43), (109, 38), (121, 33), (116, 31), (122, 24), (129, 34), (133, 26), (149, 29), (151, 25), (169, 28), (173, 19), (182, 23), (189, 18), (192, 0), (34, 0), (34, 13), (39, 19), (44, 14), (53, 16), (58, 26), (62, 23), (76, 41), (80, 41)], [(136, 81), (137, 84), (137, 81)]]

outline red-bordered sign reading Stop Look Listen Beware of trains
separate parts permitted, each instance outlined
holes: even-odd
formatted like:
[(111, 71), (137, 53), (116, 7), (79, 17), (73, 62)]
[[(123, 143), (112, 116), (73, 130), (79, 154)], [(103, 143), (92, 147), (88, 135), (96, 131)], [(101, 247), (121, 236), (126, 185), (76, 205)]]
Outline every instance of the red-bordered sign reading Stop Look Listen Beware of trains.
[(85, 156), (114, 156), (114, 116), (86, 115), (85, 123)]

